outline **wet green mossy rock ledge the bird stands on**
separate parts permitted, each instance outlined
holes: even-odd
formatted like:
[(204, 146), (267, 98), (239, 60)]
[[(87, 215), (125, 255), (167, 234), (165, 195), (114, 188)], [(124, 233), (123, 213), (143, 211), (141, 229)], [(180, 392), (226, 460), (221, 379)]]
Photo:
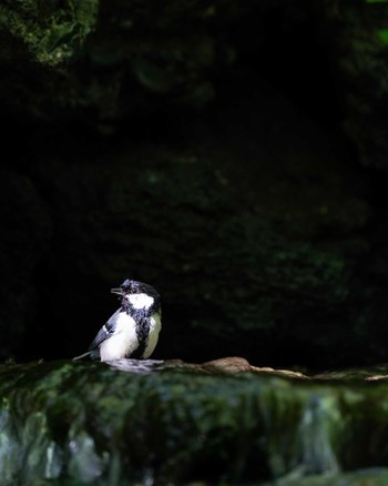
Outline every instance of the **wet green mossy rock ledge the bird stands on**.
[(1, 484), (379, 485), (385, 388), (239, 357), (7, 364)]

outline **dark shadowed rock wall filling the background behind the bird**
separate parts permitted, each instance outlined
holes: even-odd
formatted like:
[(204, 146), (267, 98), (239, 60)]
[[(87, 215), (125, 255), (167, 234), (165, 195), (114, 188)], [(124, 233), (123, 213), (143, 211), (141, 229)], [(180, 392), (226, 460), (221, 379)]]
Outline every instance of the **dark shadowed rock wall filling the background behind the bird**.
[(125, 279), (153, 357), (387, 360), (387, 7), (6, 1), (0, 356), (84, 352)]

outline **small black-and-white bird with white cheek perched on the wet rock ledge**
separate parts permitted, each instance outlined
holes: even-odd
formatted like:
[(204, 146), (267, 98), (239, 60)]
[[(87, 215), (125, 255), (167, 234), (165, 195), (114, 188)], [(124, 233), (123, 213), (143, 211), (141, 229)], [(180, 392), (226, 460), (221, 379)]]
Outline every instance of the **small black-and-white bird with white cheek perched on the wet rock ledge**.
[(161, 322), (161, 297), (149, 284), (125, 280), (119, 288), (121, 307), (101, 327), (81, 360), (113, 361), (123, 357), (146, 360), (155, 350)]

